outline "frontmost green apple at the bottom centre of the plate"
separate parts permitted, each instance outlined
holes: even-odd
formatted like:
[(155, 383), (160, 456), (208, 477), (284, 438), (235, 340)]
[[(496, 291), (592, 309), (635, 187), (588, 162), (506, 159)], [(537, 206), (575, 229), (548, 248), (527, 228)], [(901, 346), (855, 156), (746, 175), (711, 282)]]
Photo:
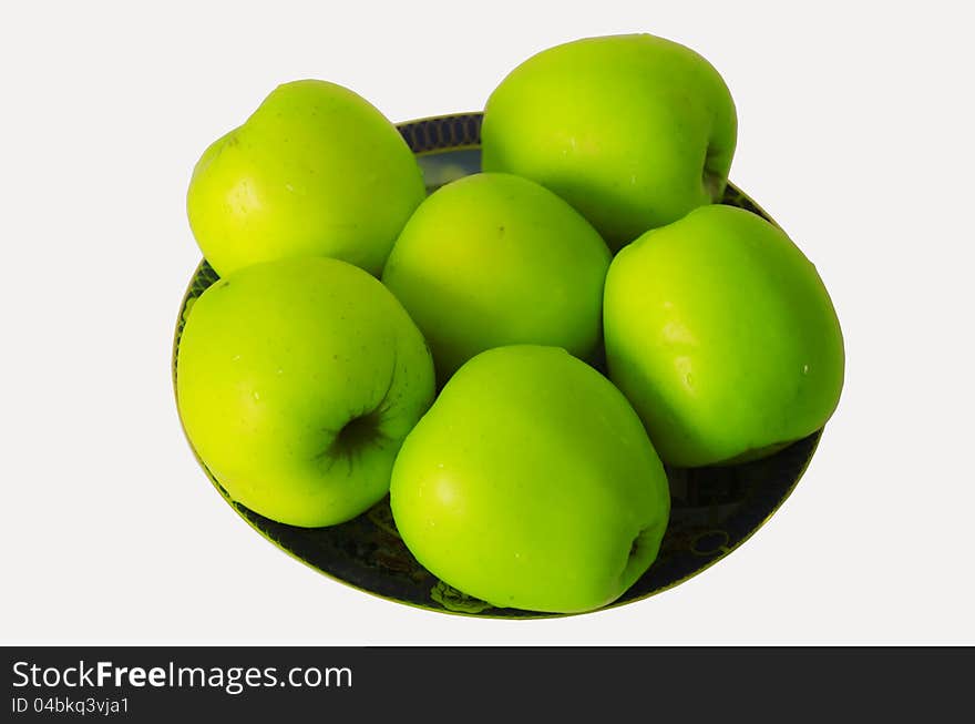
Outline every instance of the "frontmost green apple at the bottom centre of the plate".
[(626, 398), (557, 347), (484, 351), (407, 436), (390, 486), (410, 551), (495, 606), (610, 603), (656, 559), (667, 478)]

